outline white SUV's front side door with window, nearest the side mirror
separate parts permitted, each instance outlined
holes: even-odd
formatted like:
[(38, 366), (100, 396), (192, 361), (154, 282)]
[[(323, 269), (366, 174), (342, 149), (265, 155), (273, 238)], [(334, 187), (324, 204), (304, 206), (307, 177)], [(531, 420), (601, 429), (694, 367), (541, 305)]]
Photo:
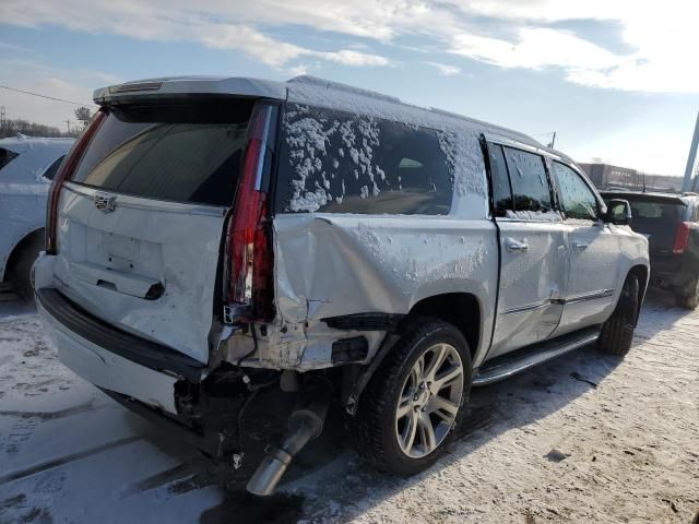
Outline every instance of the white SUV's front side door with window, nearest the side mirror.
[(597, 199), (571, 167), (552, 163), (570, 241), (570, 270), (564, 314), (556, 335), (603, 322), (614, 307), (619, 282), (619, 245), (612, 228), (600, 219)]

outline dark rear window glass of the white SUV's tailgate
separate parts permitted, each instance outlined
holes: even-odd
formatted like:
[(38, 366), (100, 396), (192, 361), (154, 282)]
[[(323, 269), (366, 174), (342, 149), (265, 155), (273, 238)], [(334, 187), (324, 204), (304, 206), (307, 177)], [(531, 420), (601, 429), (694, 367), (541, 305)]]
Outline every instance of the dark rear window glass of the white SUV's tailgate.
[(156, 200), (233, 203), (251, 102), (112, 108), (74, 182)]

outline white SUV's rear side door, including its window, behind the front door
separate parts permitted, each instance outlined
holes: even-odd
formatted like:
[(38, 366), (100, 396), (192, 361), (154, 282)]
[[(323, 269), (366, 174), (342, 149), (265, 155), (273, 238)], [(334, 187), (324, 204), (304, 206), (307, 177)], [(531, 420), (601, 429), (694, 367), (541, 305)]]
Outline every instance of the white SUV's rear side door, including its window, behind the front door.
[(494, 214), (499, 228), (500, 285), (488, 357), (548, 337), (560, 320), (567, 241), (554, 211), (544, 157), (488, 143)]

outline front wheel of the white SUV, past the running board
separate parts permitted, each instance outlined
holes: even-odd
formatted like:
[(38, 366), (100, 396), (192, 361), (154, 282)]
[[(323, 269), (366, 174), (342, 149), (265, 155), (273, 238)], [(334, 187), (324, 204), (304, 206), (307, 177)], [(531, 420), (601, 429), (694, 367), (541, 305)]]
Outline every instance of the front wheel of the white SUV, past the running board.
[(639, 289), (638, 277), (629, 274), (621, 288), (621, 296), (614, 313), (602, 326), (602, 333), (597, 338), (597, 349), (602, 353), (618, 356), (629, 353), (636, 330)]

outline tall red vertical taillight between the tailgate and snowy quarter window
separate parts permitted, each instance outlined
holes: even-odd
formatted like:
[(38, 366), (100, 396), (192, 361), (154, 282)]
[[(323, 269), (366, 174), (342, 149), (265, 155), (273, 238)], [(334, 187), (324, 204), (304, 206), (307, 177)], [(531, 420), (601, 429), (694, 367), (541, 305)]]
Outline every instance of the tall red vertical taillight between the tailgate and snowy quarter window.
[(271, 106), (258, 107), (250, 122), (242, 176), (228, 224), (228, 305), (242, 307), (236, 317), (272, 320), (272, 251), (262, 188), (264, 156), (271, 132)]

